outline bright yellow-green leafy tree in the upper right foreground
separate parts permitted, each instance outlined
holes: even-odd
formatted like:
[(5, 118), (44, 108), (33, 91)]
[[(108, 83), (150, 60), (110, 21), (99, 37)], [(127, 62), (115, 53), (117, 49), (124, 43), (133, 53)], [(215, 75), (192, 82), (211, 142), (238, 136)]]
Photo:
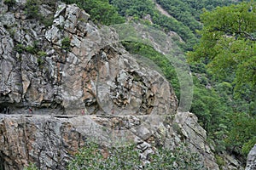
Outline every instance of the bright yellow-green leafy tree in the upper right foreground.
[[(190, 60), (203, 59), (214, 73), (235, 77), (236, 91), (256, 85), (256, 8), (255, 3), (240, 3), (201, 15), (204, 28), (201, 42)], [(245, 74), (246, 73), (246, 74)]]

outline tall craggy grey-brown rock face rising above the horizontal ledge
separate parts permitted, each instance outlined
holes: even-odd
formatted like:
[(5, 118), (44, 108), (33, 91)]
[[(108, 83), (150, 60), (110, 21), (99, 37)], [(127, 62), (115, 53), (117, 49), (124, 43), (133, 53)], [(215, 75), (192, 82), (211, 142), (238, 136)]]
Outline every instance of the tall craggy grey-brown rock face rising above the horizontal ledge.
[(0, 111), (6, 105), (38, 114), (176, 111), (168, 82), (138, 65), (114, 31), (97, 29), (76, 5), (61, 3), (53, 15), (50, 27), (22, 20), (24, 11), (2, 15)]

